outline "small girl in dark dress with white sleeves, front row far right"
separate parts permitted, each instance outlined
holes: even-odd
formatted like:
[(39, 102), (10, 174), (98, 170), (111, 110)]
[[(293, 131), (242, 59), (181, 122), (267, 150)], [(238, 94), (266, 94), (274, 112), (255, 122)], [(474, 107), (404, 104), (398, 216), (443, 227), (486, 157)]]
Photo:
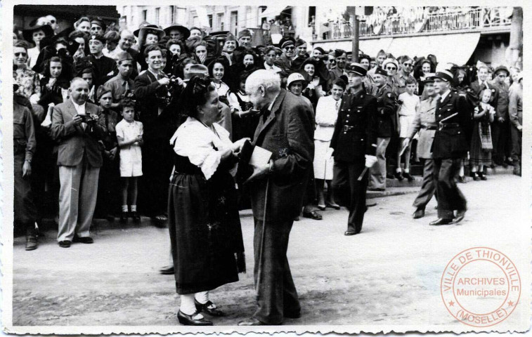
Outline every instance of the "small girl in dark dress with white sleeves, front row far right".
[(473, 136), (469, 164), (474, 180), (487, 180), (484, 176), (484, 166), (491, 164), (493, 144), (491, 143), (490, 123), (493, 122), (495, 109), (489, 104), (491, 98), (489, 89), (481, 91), (480, 97), (481, 102), (473, 112)]

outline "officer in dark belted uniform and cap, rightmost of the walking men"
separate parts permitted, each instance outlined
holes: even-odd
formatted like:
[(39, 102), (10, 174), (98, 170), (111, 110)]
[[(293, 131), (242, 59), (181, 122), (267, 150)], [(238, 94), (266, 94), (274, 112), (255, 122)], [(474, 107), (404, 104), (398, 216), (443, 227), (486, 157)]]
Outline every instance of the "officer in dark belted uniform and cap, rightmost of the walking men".
[[(467, 201), (458, 189), (454, 177), (460, 170), (461, 158), (469, 150), (472, 125), (467, 112), (466, 98), (450, 91), (453, 74), (447, 70), (436, 72), (434, 89), (436, 100), (436, 133), (432, 145), (434, 181), (438, 195), (438, 219), (430, 225), (449, 225), (460, 222), (467, 210)], [(456, 216), (453, 211), (457, 211)]]

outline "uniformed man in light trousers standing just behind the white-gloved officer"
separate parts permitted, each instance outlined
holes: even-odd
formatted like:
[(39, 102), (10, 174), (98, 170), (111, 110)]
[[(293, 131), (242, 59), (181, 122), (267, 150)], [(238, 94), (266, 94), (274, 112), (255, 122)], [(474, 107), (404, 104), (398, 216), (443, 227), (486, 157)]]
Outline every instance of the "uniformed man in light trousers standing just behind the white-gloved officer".
[(396, 95), (387, 81), (387, 72), (381, 67), (375, 69), (373, 79), (377, 86), (377, 164), (370, 169), (368, 190), (386, 190), (386, 149), (395, 130)]

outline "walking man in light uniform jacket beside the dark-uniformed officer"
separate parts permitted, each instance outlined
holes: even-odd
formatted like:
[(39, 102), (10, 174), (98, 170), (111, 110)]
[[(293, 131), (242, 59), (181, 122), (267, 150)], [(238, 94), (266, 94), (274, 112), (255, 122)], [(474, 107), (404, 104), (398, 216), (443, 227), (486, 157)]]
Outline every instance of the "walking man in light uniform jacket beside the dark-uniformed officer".
[(423, 82), (426, 100), (422, 100), (415, 114), (412, 124), (408, 127), (408, 137), (403, 140), (403, 148), (406, 148), (414, 138), (417, 131), (420, 137), (417, 140), (417, 155), (423, 159), (423, 182), (421, 190), (414, 201), (415, 212), (413, 218), (422, 218), (425, 215), (425, 207), (436, 192), (434, 183), (434, 161), (432, 159), (432, 140), (436, 133), (436, 91), (434, 91), (434, 74), (427, 74)]

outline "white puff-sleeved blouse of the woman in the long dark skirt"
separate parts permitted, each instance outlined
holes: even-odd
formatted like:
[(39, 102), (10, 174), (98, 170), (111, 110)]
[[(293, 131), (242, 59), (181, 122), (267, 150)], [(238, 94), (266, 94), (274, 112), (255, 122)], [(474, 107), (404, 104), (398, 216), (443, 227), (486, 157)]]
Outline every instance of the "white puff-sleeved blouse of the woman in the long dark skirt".
[[(203, 128), (203, 129), (202, 129)], [(214, 150), (210, 131), (203, 127), (183, 126), (178, 128), (174, 151), (183, 157), (188, 157), (191, 164), (199, 167), (205, 175), (205, 179), (212, 177), (221, 161), (221, 152)]]

